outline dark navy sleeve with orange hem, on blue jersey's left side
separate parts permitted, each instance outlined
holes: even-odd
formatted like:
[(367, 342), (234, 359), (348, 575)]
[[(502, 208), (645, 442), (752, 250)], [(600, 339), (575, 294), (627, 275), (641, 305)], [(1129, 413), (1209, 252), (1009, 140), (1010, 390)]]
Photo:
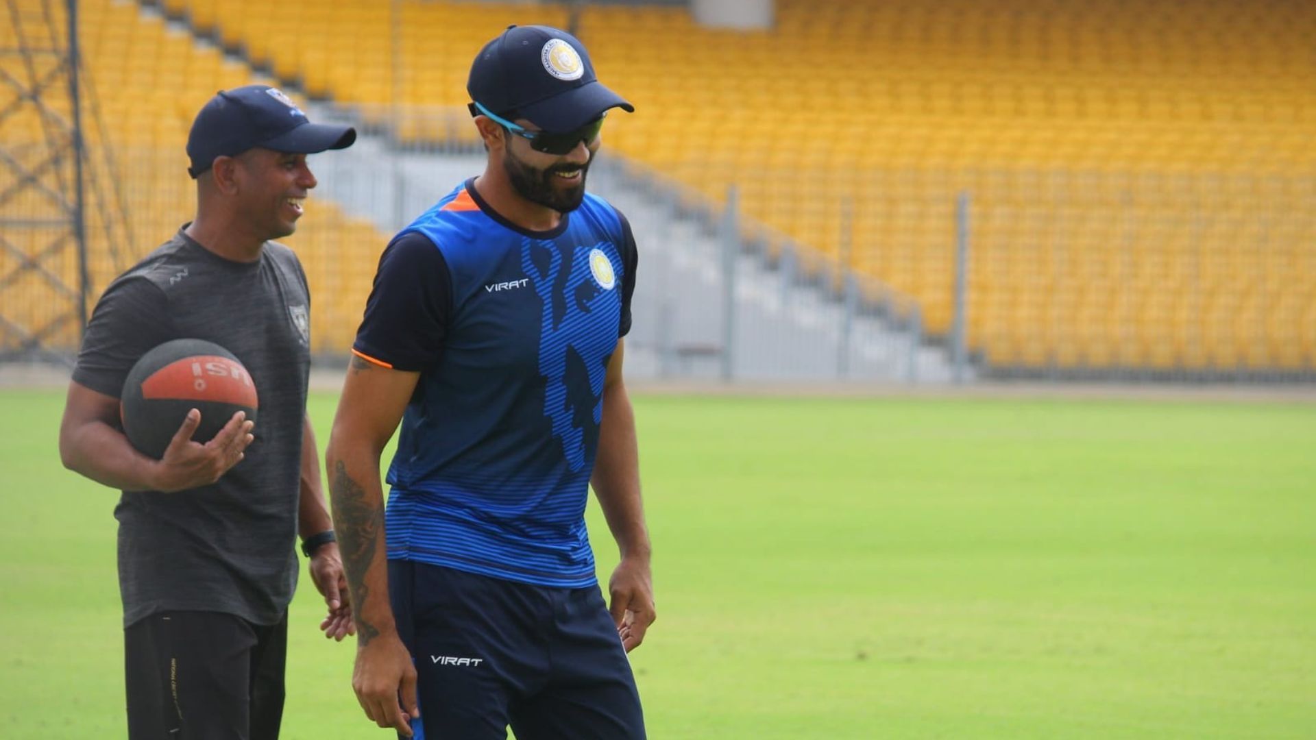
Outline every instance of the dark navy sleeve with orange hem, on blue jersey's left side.
[(409, 232), (379, 257), (354, 353), (396, 370), (424, 370), (442, 356), (453, 279), (429, 237)]

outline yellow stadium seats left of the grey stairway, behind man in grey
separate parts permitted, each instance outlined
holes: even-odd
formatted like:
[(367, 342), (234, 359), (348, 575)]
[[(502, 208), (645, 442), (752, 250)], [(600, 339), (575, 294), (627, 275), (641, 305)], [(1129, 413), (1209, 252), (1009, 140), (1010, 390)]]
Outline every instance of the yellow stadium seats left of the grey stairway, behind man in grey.
[[(28, 4), (29, 37), (47, 33), (43, 7), (57, 11), (55, 24), (63, 22), (62, 4)], [(134, 4), (83, 0), (79, 12), (88, 70), (83, 107), (91, 153), (86, 213), (95, 299), (116, 274), (193, 213), (196, 196), (186, 172), (184, 144), (196, 111), (217, 90), (270, 80), (254, 75), (245, 63), (225, 59), (213, 46), (199, 46), (190, 33), (170, 29), (162, 18), (142, 16)], [(16, 42), (12, 37), (7, 41)], [(13, 67), (13, 58), (3, 63), (25, 79), (22, 70)], [(67, 116), (68, 100), (59, 92), (50, 91), (46, 97)], [(9, 100), (0, 99), (0, 105), (5, 103)], [(33, 107), (17, 111), (0, 133), (8, 151), (29, 151), (32, 163), (46, 155), (45, 129)], [(12, 171), (0, 170), (0, 192), (14, 183)], [(49, 201), (34, 198), (7, 208), (55, 215)], [(312, 303), (312, 350), (342, 353), (355, 334), (387, 236), (315, 192), (307, 211), (297, 233), (283, 241), (301, 255), (312, 295), (318, 299)], [(17, 251), (37, 255), (61, 236), (67, 237), (67, 229), (50, 226), (14, 229), (5, 238)], [(75, 303), (68, 292), (68, 286), (78, 284), (78, 266), (71, 242), (66, 238), (62, 244), (63, 249), (51, 250), (43, 261), (45, 270), (20, 271), (14, 250), (0, 250), (0, 278), (17, 277), (3, 288), (0, 317), (7, 324), (0, 327), (0, 349), (13, 350), (34, 334), (51, 348), (78, 345), (79, 327), (70, 320)]]

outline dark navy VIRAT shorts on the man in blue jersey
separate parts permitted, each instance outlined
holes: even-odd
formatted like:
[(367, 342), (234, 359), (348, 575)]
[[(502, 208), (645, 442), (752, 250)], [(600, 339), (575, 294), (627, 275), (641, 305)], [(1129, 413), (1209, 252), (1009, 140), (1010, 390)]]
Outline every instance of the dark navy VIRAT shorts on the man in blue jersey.
[(416, 739), (642, 740), (630, 661), (597, 586), (549, 589), (388, 561), (416, 661)]

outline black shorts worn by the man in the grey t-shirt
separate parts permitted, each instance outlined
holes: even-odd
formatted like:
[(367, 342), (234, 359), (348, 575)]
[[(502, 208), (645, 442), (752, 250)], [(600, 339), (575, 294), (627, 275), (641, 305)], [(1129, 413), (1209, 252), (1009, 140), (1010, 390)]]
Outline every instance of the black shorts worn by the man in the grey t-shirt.
[(274, 740), (283, 718), (288, 615), (251, 624), (164, 611), (124, 629), (130, 740)]

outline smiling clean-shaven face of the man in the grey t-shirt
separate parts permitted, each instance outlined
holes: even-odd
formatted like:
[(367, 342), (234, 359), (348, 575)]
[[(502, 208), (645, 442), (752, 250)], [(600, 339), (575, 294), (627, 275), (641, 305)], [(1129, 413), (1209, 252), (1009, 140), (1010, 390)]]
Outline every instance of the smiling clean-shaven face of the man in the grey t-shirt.
[(237, 157), (238, 211), (265, 240), (297, 230), (307, 194), (316, 176), (305, 154), (251, 149)]

